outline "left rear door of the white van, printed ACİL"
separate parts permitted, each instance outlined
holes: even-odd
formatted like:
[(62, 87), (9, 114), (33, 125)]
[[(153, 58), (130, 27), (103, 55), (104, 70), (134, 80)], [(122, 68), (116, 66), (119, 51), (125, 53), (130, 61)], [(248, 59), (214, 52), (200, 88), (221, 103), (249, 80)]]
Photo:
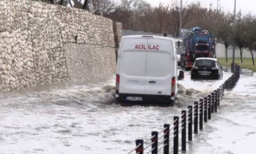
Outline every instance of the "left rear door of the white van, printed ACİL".
[(119, 93), (145, 94), (147, 40), (126, 38), (123, 40), (119, 68)]

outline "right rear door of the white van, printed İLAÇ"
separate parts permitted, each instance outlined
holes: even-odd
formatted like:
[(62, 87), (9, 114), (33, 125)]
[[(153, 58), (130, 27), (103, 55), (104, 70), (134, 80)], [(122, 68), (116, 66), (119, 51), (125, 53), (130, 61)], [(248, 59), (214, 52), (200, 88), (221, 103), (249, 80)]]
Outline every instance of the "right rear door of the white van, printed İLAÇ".
[(172, 46), (170, 40), (148, 39), (146, 94), (170, 96)]

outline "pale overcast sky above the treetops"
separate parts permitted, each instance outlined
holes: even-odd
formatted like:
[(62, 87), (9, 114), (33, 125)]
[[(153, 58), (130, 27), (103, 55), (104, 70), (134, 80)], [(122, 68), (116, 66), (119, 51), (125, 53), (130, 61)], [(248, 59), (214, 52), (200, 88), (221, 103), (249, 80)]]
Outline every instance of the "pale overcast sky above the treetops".
[[(173, 0), (145, 0), (153, 6), (158, 6), (159, 3), (170, 4)], [(217, 0), (183, 0), (183, 4), (199, 1), (203, 6), (209, 7), (212, 3), (213, 7), (217, 8)], [(226, 11), (234, 11), (234, 0), (219, 0), (219, 7)], [(236, 0), (236, 12), (241, 10), (243, 13), (252, 13), (256, 15), (256, 0)]]

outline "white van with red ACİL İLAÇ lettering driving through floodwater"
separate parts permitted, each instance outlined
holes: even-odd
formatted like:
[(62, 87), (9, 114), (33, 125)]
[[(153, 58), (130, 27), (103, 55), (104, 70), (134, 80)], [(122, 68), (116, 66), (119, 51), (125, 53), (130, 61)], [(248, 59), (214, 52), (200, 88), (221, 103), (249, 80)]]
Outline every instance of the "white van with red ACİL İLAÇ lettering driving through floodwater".
[[(174, 40), (154, 35), (123, 36), (115, 100), (121, 105), (174, 104), (178, 92)], [(184, 72), (181, 73), (182, 79)]]

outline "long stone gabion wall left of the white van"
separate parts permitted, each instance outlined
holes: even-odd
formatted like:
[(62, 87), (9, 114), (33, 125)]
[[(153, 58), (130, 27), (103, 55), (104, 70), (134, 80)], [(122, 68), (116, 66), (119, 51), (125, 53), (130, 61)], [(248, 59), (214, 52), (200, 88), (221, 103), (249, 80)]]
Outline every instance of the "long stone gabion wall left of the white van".
[(0, 1), (0, 91), (113, 72), (110, 19), (36, 1)]

